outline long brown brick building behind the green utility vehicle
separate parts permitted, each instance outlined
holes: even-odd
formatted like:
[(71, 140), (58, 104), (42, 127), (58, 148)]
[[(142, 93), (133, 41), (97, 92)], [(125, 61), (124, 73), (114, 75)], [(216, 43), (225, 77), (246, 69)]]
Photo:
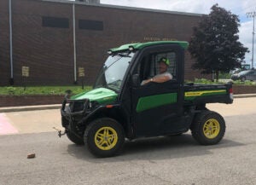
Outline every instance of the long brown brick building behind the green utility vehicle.
[[(21, 84), (22, 66), (29, 67), (27, 84), (73, 84), (79, 81), (79, 67), (84, 67), (85, 84), (93, 84), (108, 49), (132, 42), (189, 41), (200, 19), (201, 14), (96, 3), (1, 0), (0, 85)], [(199, 77), (188, 52), (185, 61), (185, 79)]]

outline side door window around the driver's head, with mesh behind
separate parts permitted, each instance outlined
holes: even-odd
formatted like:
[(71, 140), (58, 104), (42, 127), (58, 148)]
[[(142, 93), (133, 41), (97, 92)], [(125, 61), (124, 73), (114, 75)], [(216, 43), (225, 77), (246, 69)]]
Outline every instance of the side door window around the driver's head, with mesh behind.
[(177, 55), (173, 51), (151, 55), (150, 77), (154, 77), (154, 75), (159, 74), (158, 61), (160, 61), (162, 57), (166, 57), (170, 61), (167, 71), (172, 74), (172, 79), (177, 79)]

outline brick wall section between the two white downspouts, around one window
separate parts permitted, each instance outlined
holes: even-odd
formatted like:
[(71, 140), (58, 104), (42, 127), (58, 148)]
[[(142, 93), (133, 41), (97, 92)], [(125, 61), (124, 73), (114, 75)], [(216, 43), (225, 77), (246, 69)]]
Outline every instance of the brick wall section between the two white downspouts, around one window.
[(30, 67), (27, 84), (73, 83), (73, 29), (42, 26), (42, 16), (63, 17), (72, 24), (72, 7), (66, 3), (13, 1), (15, 84), (21, 84), (21, 67)]

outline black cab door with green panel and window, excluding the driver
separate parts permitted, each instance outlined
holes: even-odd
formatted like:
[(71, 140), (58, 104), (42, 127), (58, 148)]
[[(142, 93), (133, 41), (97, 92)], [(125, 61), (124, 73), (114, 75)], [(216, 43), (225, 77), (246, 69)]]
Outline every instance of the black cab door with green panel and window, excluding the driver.
[(172, 79), (131, 88), (131, 118), (136, 136), (159, 136), (184, 130), (183, 119), (183, 49), (164, 45), (145, 49), (138, 57), (133, 74), (141, 81), (158, 74), (160, 58), (170, 61)]

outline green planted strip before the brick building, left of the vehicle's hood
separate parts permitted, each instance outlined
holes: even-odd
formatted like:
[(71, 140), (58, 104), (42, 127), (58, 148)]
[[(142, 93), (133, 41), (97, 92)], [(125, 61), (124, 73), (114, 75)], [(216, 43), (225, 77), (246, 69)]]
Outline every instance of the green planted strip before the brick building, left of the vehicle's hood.
[(79, 94), (91, 90), (91, 86), (85, 86), (84, 90), (79, 85), (73, 86), (28, 86), (26, 90), (21, 86), (0, 87), (0, 95), (65, 95), (66, 90), (72, 90), (72, 94)]

